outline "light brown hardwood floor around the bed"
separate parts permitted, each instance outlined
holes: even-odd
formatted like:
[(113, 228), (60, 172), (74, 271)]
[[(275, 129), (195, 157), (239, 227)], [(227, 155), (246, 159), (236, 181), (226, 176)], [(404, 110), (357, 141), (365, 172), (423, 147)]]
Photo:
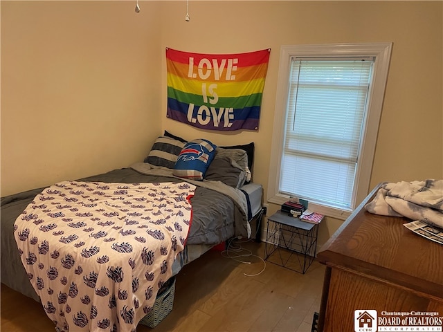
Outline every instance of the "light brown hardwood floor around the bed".
[[(263, 257), (264, 243), (242, 247)], [(293, 331), (310, 332), (320, 309), (325, 267), (314, 261), (305, 275), (257, 257), (244, 264), (210, 250), (177, 275), (172, 312), (147, 331)], [(248, 277), (247, 275), (255, 275)], [(1, 284), (1, 331), (55, 331), (42, 305)]]

